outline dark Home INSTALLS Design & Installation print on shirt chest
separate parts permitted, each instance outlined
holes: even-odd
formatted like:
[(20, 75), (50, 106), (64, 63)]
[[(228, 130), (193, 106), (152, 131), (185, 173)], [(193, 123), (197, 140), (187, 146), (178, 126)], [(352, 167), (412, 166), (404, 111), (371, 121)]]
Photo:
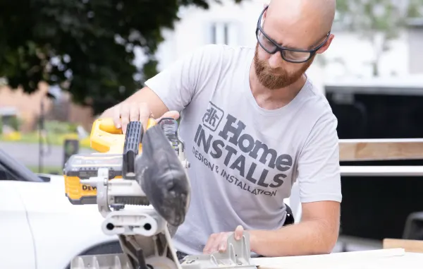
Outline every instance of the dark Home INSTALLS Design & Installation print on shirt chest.
[(197, 127), (192, 153), (212, 172), (240, 189), (276, 196), (293, 165), (293, 157), (269, 148), (245, 132), (243, 121), (225, 114), (209, 102), (202, 124)]

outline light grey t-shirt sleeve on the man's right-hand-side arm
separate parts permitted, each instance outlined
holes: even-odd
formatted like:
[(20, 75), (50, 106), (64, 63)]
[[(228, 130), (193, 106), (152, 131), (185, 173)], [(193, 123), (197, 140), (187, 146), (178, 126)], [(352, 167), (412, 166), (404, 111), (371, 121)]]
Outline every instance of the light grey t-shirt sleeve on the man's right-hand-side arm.
[(322, 116), (312, 128), (298, 160), (298, 186), (302, 203), (338, 201), (341, 203), (341, 169), (333, 114)]

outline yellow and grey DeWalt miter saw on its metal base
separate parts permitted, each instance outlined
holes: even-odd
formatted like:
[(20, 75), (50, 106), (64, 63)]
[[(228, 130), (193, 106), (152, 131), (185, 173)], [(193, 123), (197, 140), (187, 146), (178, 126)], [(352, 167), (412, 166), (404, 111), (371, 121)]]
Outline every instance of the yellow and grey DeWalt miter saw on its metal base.
[(77, 256), (71, 269), (256, 268), (247, 233), (241, 240), (229, 237), (225, 252), (178, 261), (169, 231), (185, 220), (190, 165), (176, 120), (149, 119), (146, 128), (131, 121), (123, 135), (112, 119), (97, 119), (90, 140), (99, 153), (68, 160), (66, 196), (74, 205), (97, 203), (102, 231), (118, 236), (123, 253)]

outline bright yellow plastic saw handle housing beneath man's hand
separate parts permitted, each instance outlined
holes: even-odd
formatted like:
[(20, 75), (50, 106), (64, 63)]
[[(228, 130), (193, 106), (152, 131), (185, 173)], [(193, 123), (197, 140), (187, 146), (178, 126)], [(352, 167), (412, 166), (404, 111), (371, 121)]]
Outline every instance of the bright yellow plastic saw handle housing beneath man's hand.
[[(139, 121), (136, 121), (139, 122)], [(147, 128), (155, 126), (157, 123), (154, 119), (150, 118), (147, 121)], [(128, 124), (126, 133), (133, 133), (130, 128), (138, 128), (142, 124)], [(133, 127), (131, 127), (133, 126)], [(111, 118), (96, 119), (92, 124), (90, 134), (90, 146), (93, 150), (99, 153), (123, 153), (125, 147), (126, 135), (123, 134), (121, 128), (116, 128), (114, 121)], [(142, 145), (139, 145), (139, 151), (142, 150)]]

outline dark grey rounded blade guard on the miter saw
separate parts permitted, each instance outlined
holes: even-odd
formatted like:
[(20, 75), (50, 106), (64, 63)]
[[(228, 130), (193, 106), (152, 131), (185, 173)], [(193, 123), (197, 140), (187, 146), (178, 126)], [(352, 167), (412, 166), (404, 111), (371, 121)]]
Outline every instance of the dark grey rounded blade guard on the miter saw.
[(190, 203), (190, 184), (171, 143), (160, 123), (147, 129), (142, 138), (142, 155), (135, 162), (135, 174), (157, 212), (170, 225), (179, 226)]

